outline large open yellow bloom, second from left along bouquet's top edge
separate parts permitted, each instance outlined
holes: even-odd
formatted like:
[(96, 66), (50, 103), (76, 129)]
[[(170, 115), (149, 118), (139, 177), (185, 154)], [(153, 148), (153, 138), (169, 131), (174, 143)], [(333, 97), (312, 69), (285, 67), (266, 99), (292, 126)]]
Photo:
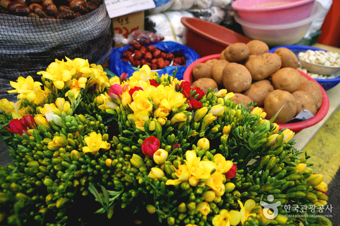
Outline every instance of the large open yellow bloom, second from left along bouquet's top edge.
[(65, 82), (70, 81), (72, 78), (72, 73), (67, 65), (65, 65), (65, 62), (53, 62), (48, 66), (46, 71), (39, 71), (36, 74), (53, 81), (57, 89), (63, 89)]

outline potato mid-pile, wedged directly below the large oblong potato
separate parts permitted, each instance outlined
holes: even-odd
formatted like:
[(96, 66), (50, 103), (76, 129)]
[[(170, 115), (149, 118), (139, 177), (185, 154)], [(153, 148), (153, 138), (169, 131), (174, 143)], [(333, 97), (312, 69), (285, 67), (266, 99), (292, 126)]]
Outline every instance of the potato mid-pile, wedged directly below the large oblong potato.
[(262, 80), (252, 83), (251, 87), (243, 94), (250, 97), (254, 103), (257, 103), (255, 106), (263, 106), (265, 98), (273, 90), (274, 87), (271, 85), (270, 81)]

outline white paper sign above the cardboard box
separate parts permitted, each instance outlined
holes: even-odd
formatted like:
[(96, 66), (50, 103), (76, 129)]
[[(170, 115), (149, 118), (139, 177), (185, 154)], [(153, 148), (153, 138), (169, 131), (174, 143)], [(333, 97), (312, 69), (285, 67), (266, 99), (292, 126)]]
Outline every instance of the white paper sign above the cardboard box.
[(105, 0), (104, 2), (110, 18), (156, 7), (153, 0)]

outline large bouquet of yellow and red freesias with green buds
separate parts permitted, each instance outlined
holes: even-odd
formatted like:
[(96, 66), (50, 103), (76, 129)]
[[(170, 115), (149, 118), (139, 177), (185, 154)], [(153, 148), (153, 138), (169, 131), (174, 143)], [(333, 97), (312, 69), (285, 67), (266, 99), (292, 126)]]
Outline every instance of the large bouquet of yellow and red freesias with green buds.
[(14, 159), (0, 170), (1, 225), (331, 225), (306, 215), (327, 185), (294, 133), (233, 93), (147, 65), (108, 79), (66, 58), (38, 74), (11, 82), (17, 103), (0, 100)]

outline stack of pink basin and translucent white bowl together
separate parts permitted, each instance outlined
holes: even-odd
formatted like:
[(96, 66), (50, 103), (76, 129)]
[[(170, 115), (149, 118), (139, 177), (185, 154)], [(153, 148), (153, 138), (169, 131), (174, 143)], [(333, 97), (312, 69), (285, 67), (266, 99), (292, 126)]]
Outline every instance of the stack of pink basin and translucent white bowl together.
[(244, 34), (271, 47), (300, 41), (323, 10), (315, 0), (235, 0), (232, 7)]

